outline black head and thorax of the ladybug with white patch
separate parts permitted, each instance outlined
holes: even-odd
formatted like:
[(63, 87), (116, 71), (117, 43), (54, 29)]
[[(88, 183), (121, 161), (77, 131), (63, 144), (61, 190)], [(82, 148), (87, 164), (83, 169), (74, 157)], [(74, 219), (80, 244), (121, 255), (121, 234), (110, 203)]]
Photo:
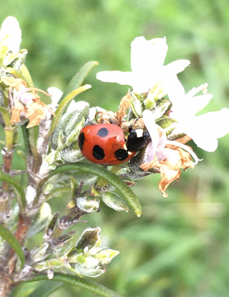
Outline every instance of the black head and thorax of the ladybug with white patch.
[(143, 132), (143, 129), (131, 130), (127, 138), (128, 151), (140, 151), (148, 142), (151, 141), (149, 132)]

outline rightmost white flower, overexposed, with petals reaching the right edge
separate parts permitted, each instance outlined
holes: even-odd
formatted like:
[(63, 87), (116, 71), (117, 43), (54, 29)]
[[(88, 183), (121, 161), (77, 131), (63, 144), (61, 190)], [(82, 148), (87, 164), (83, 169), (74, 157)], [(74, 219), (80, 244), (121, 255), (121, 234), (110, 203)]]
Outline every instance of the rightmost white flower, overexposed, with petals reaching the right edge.
[[(196, 113), (204, 108), (213, 97), (212, 94), (206, 94), (206, 88), (207, 83), (185, 94), (176, 75), (166, 84), (166, 91), (172, 102), (171, 116), (178, 121), (177, 132), (185, 133), (198, 147), (212, 152), (217, 149), (217, 139), (229, 132), (229, 109), (222, 108), (219, 111), (196, 116)], [(201, 90), (204, 94), (195, 96)]]

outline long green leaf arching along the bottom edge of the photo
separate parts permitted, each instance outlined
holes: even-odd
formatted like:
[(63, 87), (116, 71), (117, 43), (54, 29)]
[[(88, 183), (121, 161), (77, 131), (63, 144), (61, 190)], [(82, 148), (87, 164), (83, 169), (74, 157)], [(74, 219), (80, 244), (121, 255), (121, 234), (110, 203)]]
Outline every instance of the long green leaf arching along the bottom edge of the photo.
[[(47, 279), (48, 279), (47, 274), (39, 274), (26, 282), (36, 282), (39, 280), (47, 280)], [(121, 297), (120, 295), (118, 295), (117, 293), (115, 293), (110, 289), (107, 289), (103, 285), (97, 284), (96, 282), (93, 282), (89, 279), (76, 277), (72, 274), (55, 272), (51, 281), (64, 282), (65, 284), (89, 290), (103, 297)]]

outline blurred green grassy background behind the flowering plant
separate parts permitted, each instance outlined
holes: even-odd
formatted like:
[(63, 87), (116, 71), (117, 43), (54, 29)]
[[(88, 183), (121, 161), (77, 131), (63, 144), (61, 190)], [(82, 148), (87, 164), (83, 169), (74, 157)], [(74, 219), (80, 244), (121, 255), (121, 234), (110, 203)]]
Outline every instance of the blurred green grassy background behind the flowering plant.
[[(95, 74), (130, 71), (130, 43), (135, 37), (166, 36), (165, 64), (191, 61), (179, 75), (185, 90), (209, 84), (214, 97), (201, 111), (206, 113), (229, 107), (228, 4), (222, 0), (1, 0), (0, 21), (8, 15), (19, 21), (21, 48), (28, 49), (26, 65), (40, 89), (63, 90), (84, 63), (97, 60), (99, 66), (86, 79), (92, 89), (77, 98), (113, 111), (128, 86), (102, 83)], [(160, 176), (137, 181), (133, 190), (142, 203), (140, 218), (105, 205), (100, 213), (85, 217), (90, 225), (102, 228), (103, 246), (120, 251), (95, 281), (124, 296), (228, 296), (228, 136), (219, 139), (214, 153), (191, 145), (204, 160), (182, 172), (179, 183), (169, 186), (168, 198), (158, 191)], [(25, 168), (16, 154), (13, 168)], [(69, 200), (66, 195), (51, 200), (53, 212), (64, 213)], [(76, 238), (84, 228), (75, 226)], [(28, 247), (41, 240), (42, 233)], [(17, 296), (26, 296), (35, 285), (27, 285)], [(94, 295), (62, 285), (50, 296)]]

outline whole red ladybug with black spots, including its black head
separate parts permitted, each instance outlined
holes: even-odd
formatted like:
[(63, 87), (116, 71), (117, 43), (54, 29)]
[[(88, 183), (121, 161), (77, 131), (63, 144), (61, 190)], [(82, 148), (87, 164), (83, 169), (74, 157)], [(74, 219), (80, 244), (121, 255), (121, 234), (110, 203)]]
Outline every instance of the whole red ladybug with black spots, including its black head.
[(79, 149), (89, 161), (99, 165), (118, 165), (129, 161), (151, 141), (148, 132), (129, 127), (127, 140), (116, 124), (92, 124), (81, 129)]

